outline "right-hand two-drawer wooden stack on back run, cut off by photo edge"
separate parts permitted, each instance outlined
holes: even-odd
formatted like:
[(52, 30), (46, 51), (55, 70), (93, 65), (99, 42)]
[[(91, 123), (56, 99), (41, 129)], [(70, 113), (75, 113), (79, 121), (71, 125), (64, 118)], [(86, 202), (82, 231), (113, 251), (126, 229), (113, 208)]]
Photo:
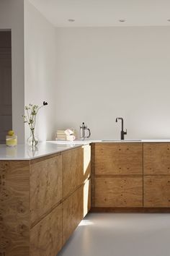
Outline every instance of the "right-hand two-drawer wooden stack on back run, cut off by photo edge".
[(143, 145), (143, 204), (170, 207), (170, 143)]

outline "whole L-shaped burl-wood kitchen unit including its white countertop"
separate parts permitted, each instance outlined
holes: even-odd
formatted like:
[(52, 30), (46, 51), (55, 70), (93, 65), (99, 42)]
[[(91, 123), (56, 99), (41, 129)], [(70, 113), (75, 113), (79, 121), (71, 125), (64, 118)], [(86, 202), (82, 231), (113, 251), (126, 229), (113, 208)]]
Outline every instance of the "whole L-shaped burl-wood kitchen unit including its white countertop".
[(0, 255), (55, 256), (89, 210), (170, 212), (170, 140), (0, 146)]

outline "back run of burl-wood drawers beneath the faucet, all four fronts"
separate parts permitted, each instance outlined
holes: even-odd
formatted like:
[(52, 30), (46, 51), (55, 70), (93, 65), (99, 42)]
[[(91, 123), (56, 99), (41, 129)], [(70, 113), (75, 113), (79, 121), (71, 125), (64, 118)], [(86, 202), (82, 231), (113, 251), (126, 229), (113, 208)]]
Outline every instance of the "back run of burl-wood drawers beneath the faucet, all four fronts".
[(170, 208), (170, 143), (97, 143), (92, 166), (93, 208)]

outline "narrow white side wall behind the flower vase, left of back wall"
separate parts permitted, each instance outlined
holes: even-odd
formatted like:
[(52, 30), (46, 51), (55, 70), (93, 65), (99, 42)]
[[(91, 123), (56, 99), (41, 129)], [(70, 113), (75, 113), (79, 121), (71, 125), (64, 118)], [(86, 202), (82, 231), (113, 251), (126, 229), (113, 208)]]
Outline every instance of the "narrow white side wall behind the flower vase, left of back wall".
[[(24, 101), (48, 106), (40, 109), (35, 134), (40, 141), (55, 134), (55, 28), (29, 1), (24, 1)], [(30, 131), (26, 125), (25, 138)]]

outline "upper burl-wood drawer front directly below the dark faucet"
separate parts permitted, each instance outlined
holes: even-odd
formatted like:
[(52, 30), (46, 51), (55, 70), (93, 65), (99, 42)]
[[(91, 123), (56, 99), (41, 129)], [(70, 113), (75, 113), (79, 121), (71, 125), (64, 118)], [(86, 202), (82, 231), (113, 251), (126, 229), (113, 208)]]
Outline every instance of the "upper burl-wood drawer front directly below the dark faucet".
[(95, 145), (96, 175), (142, 175), (142, 143), (101, 143)]

